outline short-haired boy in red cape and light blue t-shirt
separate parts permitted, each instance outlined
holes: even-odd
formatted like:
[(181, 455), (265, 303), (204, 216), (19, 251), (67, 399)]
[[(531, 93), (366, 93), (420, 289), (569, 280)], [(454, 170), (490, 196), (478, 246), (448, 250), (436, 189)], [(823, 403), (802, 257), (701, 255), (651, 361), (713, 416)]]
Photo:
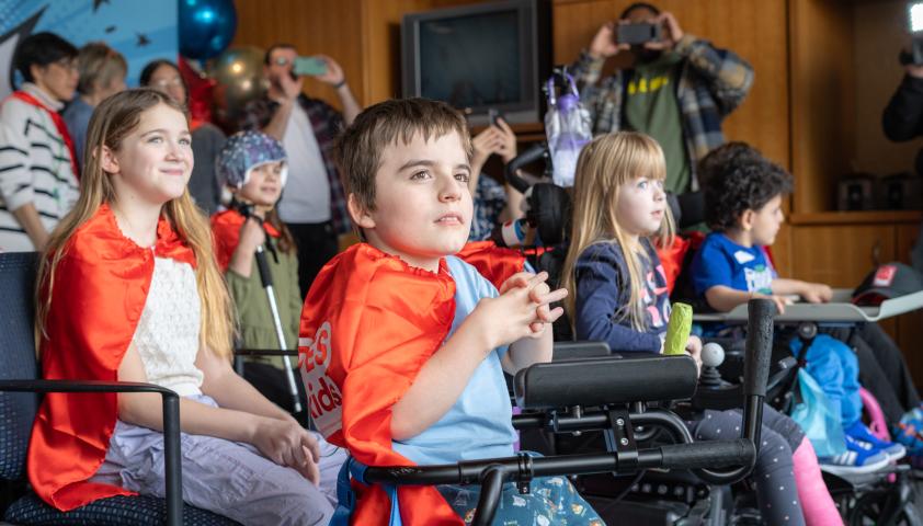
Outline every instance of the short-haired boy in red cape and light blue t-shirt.
[[(367, 108), (338, 145), (350, 215), (367, 242), (315, 279), (299, 367), (321, 433), (366, 466), (513, 455), (503, 371), (551, 358), (550, 323), (562, 311), (549, 304), (567, 291), (469, 247), (498, 291), (455, 255), (472, 215), (470, 151), (464, 117), (423, 99)], [(498, 522), (599, 521), (563, 478), (536, 479), (526, 495), (506, 485)], [(353, 490), (352, 524), (387, 524), (395, 512), (422, 526), (463, 524), (479, 488), (399, 487), (394, 499), (377, 485)]]

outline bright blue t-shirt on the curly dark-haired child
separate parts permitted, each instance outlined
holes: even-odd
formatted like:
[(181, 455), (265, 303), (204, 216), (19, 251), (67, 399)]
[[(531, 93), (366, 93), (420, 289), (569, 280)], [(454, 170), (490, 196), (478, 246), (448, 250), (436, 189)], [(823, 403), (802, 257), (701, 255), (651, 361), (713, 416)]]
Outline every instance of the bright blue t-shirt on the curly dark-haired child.
[(743, 247), (720, 232), (709, 233), (695, 254), (692, 281), (698, 296), (717, 285), (748, 293), (773, 294), (778, 277), (761, 245)]

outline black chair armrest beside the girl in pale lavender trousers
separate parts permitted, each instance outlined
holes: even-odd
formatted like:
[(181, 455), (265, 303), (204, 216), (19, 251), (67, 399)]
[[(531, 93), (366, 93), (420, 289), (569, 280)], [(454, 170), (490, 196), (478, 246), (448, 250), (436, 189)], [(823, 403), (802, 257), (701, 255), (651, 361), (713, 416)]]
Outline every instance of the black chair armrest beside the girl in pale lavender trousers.
[(180, 396), (171, 389), (136, 381), (0, 380), (0, 392), (156, 392), (163, 403), (163, 462), (167, 481), (167, 524), (183, 524), (183, 487), (180, 465)]

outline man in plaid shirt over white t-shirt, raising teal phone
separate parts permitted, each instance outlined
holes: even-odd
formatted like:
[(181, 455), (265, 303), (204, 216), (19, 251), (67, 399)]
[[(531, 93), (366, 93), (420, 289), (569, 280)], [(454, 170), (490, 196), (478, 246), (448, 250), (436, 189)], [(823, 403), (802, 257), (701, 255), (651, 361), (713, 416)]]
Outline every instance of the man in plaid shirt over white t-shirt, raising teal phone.
[(285, 147), (288, 182), (277, 209), (298, 245), (298, 285), (307, 295), (320, 268), (339, 251), (339, 235), (350, 231), (346, 199), (333, 163), (333, 141), (362, 111), (343, 69), (330, 57), (315, 76), (332, 85), (343, 106), (341, 115), (323, 101), (301, 92), (304, 78), (293, 73), (295, 47), (275, 44), (265, 55), (270, 88), (243, 111), (240, 129), (262, 129)]

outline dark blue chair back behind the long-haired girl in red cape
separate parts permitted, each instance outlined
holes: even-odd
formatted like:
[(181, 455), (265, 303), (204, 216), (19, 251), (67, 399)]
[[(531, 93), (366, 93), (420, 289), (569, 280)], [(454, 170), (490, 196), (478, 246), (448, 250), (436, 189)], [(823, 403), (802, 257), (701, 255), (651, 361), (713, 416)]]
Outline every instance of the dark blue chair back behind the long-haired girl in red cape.
[[(37, 378), (33, 320), (36, 252), (0, 253), (0, 379)], [(0, 392), (0, 480), (25, 479), (38, 395)]]

